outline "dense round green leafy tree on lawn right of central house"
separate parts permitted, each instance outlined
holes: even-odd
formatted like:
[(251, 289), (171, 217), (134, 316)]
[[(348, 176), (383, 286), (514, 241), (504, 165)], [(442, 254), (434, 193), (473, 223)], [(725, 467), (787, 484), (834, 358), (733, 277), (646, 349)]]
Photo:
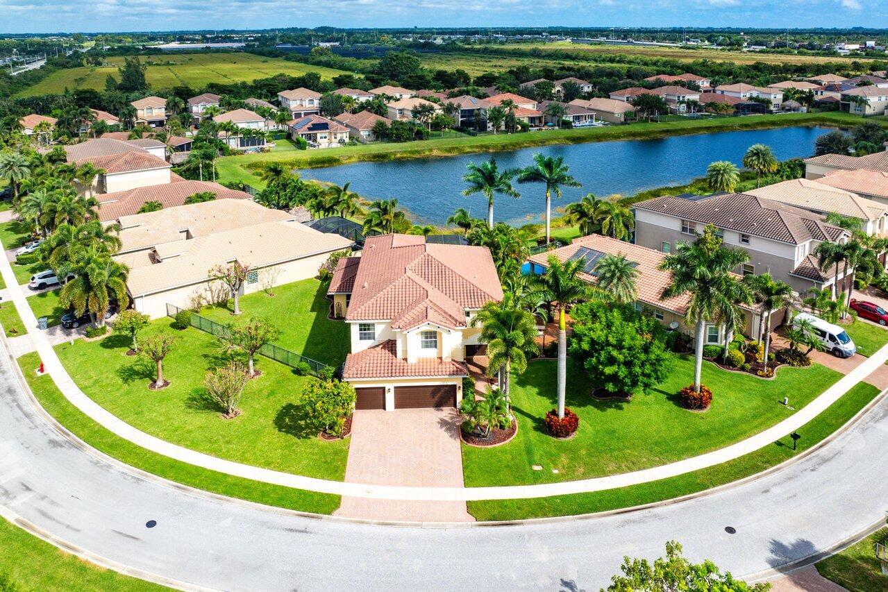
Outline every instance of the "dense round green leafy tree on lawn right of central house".
[(648, 392), (669, 375), (674, 357), (657, 320), (600, 302), (577, 304), (571, 317), (571, 354), (607, 393)]

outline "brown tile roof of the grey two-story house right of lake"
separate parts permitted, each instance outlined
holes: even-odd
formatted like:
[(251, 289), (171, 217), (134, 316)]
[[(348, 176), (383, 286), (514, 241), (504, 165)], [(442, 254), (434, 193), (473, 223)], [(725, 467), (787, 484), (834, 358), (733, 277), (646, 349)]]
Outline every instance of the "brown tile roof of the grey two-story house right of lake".
[(818, 214), (747, 193), (722, 193), (698, 201), (664, 195), (639, 201), (635, 208), (794, 245), (835, 241), (847, 234)]

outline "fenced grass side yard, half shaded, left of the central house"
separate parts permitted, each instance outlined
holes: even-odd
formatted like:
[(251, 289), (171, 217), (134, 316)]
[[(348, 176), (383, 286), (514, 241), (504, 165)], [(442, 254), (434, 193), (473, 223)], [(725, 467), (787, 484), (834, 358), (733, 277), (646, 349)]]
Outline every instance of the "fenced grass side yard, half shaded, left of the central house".
[(327, 284), (318, 280), (294, 281), (274, 288), (274, 296), (255, 292), (242, 296), (242, 317), (235, 319), (231, 312), (234, 303), (226, 307), (210, 306), (202, 316), (218, 323), (238, 322), (244, 317), (263, 317), (281, 329), (277, 344), (316, 359), (328, 366), (339, 366), (350, 351), (351, 337), (348, 325), (341, 320), (329, 320), (330, 301)]

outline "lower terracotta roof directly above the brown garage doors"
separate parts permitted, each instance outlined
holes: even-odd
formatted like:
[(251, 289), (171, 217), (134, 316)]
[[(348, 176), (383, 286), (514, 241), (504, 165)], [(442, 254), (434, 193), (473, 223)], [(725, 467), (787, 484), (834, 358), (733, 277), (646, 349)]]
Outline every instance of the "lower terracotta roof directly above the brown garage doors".
[(414, 363), (397, 357), (393, 339), (378, 343), (345, 358), (343, 378), (394, 378), (407, 376), (467, 376), (464, 364), (437, 358), (421, 358)]

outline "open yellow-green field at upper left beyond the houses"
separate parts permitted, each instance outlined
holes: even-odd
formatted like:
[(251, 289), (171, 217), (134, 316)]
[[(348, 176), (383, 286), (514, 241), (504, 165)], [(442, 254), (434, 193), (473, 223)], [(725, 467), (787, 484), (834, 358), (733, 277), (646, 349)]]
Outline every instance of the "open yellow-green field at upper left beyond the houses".
[[(249, 83), (257, 78), (267, 78), (277, 74), (301, 76), (317, 72), (321, 78), (332, 78), (348, 74), (329, 67), (310, 66), (296, 61), (279, 58), (265, 58), (252, 53), (173, 53), (160, 56), (142, 56), (142, 63), (148, 64), (146, 78), (155, 90), (173, 86), (190, 86), (201, 89), (209, 83), (233, 84)], [(65, 89), (105, 88), (107, 75), (117, 74), (117, 67), (123, 64), (123, 57), (107, 59), (107, 66), (75, 67), (59, 70), (44, 80), (20, 91), (17, 97), (30, 97), (43, 94), (59, 94)]]

